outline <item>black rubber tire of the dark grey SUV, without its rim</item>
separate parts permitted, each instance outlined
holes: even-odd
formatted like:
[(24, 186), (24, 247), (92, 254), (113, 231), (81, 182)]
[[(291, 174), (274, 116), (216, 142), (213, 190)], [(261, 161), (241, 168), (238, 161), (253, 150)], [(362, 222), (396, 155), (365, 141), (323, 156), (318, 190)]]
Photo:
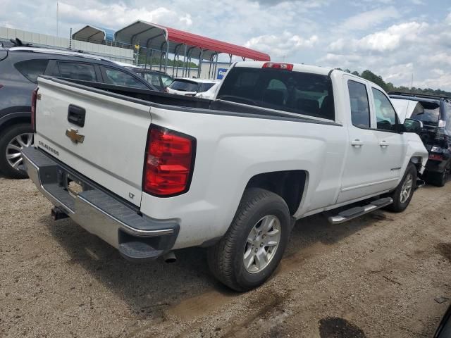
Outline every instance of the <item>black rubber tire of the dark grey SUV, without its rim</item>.
[(9, 178), (27, 178), (28, 175), (23, 170), (13, 168), (6, 160), (6, 146), (12, 139), (16, 138), (20, 134), (32, 133), (32, 127), (30, 123), (19, 123), (17, 125), (11, 125), (3, 130), (0, 134), (0, 171), (6, 177)]

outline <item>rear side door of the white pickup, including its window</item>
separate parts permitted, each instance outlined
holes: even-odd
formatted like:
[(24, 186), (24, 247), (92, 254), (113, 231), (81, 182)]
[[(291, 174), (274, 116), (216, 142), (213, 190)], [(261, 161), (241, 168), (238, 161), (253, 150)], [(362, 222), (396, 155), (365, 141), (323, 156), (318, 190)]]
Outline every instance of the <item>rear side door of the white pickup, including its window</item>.
[[(337, 203), (378, 194), (390, 186), (381, 170), (381, 146), (373, 118), (371, 88), (359, 77), (343, 75), (348, 146)], [(393, 182), (392, 182), (393, 184)]]

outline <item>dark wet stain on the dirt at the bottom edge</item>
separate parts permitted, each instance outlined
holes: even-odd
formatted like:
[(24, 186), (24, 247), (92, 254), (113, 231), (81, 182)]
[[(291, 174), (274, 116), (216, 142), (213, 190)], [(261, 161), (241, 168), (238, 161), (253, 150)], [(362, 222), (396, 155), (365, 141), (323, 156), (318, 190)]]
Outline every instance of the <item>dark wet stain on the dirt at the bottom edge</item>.
[(359, 327), (338, 317), (326, 317), (319, 321), (319, 337), (366, 338), (364, 332)]

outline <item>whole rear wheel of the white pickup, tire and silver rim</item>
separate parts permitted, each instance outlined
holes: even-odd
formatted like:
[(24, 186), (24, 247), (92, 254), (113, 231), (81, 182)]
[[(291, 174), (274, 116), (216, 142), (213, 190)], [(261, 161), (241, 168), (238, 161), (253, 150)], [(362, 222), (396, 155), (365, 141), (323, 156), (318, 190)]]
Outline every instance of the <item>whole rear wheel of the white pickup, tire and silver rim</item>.
[(236, 291), (258, 287), (277, 268), (289, 236), (285, 201), (265, 189), (246, 189), (228, 231), (209, 248), (210, 270)]

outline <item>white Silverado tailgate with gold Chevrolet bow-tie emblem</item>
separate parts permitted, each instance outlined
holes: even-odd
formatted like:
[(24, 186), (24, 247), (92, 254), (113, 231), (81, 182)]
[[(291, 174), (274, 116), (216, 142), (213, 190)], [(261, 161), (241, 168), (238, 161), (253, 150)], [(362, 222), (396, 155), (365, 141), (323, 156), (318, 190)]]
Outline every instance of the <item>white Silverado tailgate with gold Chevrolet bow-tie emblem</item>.
[(41, 77), (38, 87), (35, 146), (140, 206), (150, 107)]

